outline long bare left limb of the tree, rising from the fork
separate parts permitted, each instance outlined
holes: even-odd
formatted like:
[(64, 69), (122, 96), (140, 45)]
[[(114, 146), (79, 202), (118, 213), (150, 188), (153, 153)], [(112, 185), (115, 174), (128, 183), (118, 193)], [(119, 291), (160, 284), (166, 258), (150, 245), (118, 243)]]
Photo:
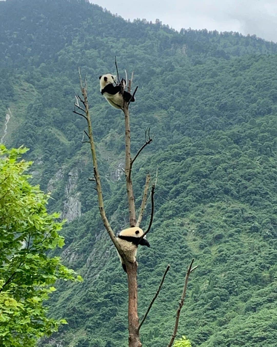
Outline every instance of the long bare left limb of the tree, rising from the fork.
[(119, 246), (119, 243), (117, 242), (117, 239), (115, 237), (113, 229), (111, 228), (111, 226), (109, 224), (109, 221), (108, 221), (108, 219), (106, 217), (106, 213), (105, 213), (105, 209), (104, 209), (104, 201), (103, 201), (103, 195), (102, 195), (101, 181), (100, 181), (100, 175), (99, 175), (98, 166), (97, 166), (96, 149), (95, 149), (95, 143), (93, 141), (92, 126), (91, 126), (91, 120), (90, 120), (90, 114), (89, 114), (89, 103), (88, 103), (88, 95), (87, 95), (87, 91), (88, 91), (87, 90), (87, 81), (85, 79), (85, 87), (83, 87), (80, 68), (79, 68), (79, 79), (80, 79), (80, 87), (81, 87), (83, 99), (80, 96), (77, 96), (77, 97), (83, 103), (83, 105), (85, 107), (84, 108), (84, 112), (85, 112), (86, 115), (84, 116), (81, 113), (78, 113), (76, 111), (73, 111), (73, 112), (83, 116), (87, 120), (88, 133), (85, 131), (85, 134), (88, 136), (89, 143), (90, 143), (90, 149), (91, 149), (91, 155), (92, 155), (92, 161), (93, 161), (93, 172), (94, 172), (94, 176), (95, 176), (95, 180), (96, 180), (96, 191), (97, 191), (97, 197), (98, 197), (99, 211), (100, 211), (100, 214), (101, 214), (101, 218), (102, 218), (103, 224), (104, 224), (104, 226), (105, 226), (105, 228), (106, 228), (106, 230), (107, 230), (107, 232), (109, 234), (109, 237), (110, 237), (111, 241), (115, 245), (115, 248), (117, 249), (117, 251), (120, 254), (120, 256), (122, 257), (122, 259), (124, 261), (127, 261), (124, 253), (122, 252), (122, 250), (121, 250), (121, 248)]

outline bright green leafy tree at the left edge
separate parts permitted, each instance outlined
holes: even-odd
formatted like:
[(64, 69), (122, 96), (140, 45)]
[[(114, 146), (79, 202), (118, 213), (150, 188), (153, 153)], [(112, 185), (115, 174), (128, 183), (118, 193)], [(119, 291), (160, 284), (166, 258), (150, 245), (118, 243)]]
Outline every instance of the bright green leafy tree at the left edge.
[(26, 148), (7, 150), (0, 145), (0, 345), (35, 346), (38, 338), (57, 331), (59, 321), (47, 317), (43, 305), (55, 291), (57, 279), (81, 281), (59, 257), (47, 251), (62, 247), (59, 214), (48, 214), (49, 198), (32, 186), (32, 162), (19, 160)]

